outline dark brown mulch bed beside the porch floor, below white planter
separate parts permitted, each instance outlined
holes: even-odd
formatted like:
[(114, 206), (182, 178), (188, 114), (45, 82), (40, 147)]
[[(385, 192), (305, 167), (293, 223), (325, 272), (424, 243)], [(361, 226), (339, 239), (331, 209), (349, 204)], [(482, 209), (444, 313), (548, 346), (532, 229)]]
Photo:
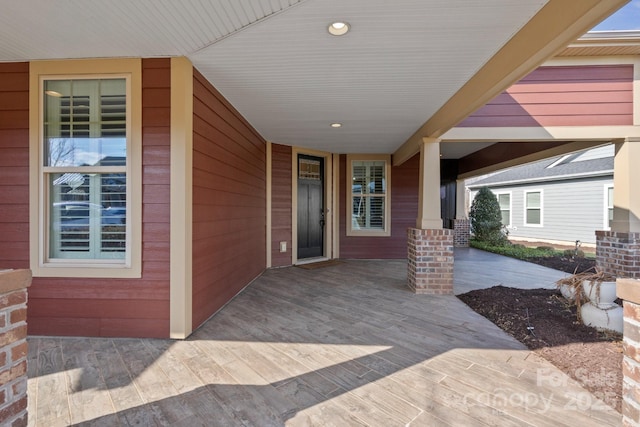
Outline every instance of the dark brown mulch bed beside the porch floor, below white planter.
[[(565, 264), (562, 271), (573, 273), (575, 265)], [(575, 306), (559, 291), (495, 286), (458, 298), (621, 411), (622, 336), (578, 322)]]

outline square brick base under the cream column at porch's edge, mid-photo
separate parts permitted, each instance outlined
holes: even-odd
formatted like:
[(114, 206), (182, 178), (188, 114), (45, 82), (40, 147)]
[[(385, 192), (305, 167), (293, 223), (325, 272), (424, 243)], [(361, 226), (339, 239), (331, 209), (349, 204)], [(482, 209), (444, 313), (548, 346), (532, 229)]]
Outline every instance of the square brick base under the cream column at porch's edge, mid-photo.
[(408, 283), (416, 294), (453, 294), (453, 231), (409, 228)]

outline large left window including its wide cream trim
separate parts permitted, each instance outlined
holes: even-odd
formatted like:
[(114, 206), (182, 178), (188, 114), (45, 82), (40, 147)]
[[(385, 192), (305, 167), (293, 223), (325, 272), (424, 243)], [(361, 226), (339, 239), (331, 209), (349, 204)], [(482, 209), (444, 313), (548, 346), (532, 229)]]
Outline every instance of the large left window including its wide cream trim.
[(133, 128), (140, 112), (132, 111), (132, 75), (43, 74), (39, 67), (46, 65), (35, 67), (34, 275), (139, 277), (140, 130)]

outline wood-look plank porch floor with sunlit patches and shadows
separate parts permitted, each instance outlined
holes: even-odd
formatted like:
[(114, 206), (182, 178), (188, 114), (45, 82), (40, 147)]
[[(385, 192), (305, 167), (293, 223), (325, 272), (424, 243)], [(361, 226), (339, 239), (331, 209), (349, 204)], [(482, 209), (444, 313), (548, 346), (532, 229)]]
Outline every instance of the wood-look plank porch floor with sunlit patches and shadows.
[(267, 271), (188, 340), (29, 338), (29, 425), (603, 426), (620, 415), (406, 263)]

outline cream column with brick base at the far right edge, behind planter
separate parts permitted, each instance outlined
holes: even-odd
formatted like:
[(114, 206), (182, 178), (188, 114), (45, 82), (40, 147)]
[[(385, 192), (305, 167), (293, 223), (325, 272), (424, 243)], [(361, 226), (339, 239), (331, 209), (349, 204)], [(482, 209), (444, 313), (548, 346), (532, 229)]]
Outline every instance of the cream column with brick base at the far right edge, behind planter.
[(596, 265), (616, 277), (640, 279), (640, 138), (616, 143), (613, 224), (596, 231)]

